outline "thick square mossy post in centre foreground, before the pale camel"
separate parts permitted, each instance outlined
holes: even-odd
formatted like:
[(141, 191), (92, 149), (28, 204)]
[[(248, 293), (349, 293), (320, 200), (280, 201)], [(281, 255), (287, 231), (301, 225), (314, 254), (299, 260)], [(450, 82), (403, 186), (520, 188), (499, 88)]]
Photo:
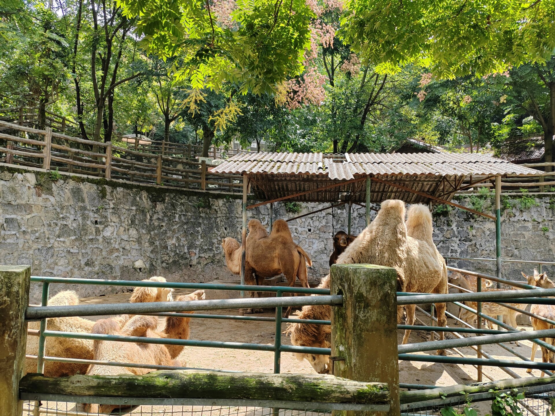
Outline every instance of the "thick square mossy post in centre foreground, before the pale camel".
[[(334, 376), (387, 383), (389, 415), (400, 415), (397, 361), (397, 273), (375, 265), (332, 265), (331, 293), (343, 306), (331, 308)], [(361, 412), (340, 412), (362, 416)]]

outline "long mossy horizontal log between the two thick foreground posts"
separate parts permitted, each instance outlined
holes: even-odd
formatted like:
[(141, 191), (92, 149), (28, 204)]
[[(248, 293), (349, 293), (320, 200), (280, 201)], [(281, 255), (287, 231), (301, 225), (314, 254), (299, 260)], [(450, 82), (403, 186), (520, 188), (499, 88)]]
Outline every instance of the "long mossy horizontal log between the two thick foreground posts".
[(365, 383), (320, 374), (155, 371), (144, 376), (44, 377), (27, 374), (21, 393), (99, 397), (287, 400), (319, 403), (387, 404), (385, 383)]

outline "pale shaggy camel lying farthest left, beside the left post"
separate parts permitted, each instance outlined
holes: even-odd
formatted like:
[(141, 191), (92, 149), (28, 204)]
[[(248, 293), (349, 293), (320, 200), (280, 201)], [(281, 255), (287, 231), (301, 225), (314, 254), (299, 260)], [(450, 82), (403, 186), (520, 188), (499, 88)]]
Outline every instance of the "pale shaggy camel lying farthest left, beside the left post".
[[(144, 281), (165, 282), (166, 280), (160, 276), (153, 276)], [(135, 287), (129, 302), (171, 301), (172, 291), (173, 290), (169, 288)], [(51, 297), (48, 301), (48, 305), (79, 305), (79, 298), (74, 291), (63, 291)], [(118, 322), (119, 326), (122, 327), (129, 318), (130, 317), (127, 315), (122, 315), (114, 319)], [(28, 328), (39, 329), (40, 325), (40, 322), (29, 322)], [(80, 317), (47, 319), (47, 329), (49, 331), (91, 333), (93, 325), (94, 321)], [(37, 356), (38, 337), (27, 337), (26, 354)], [(49, 337), (45, 344), (44, 355), (47, 357), (93, 359), (93, 341), (91, 339)], [(45, 361), (44, 375), (47, 377), (73, 376), (75, 374), (84, 374), (87, 368), (88, 364)], [(35, 358), (26, 358), (25, 374), (36, 372), (37, 360)]]

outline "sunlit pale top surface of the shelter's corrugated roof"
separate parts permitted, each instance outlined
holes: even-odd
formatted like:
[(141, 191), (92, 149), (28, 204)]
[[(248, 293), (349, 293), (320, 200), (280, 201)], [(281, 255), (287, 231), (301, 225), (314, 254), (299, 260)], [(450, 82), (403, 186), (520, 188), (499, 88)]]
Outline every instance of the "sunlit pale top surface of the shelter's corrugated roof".
[(211, 169), (214, 173), (322, 175), (331, 180), (355, 176), (534, 176), (536, 169), (483, 154), (467, 153), (354, 153), (336, 163), (322, 153), (240, 153)]

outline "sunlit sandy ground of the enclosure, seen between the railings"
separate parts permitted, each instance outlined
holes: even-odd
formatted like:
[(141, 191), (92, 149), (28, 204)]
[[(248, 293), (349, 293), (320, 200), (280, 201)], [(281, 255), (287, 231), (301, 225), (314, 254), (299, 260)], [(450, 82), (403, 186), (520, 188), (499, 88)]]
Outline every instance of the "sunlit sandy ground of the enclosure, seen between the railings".
[[(179, 295), (181, 293), (176, 293)], [(127, 302), (129, 298), (129, 293), (110, 295), (110, 296), (100, 296), (94, 298), (84, 298), (81, 303), (114, 303), (114, 302)], [(205, 313), (210, 314), (238, 314), (236, 310), (224, 310), (224, 311), (209, 311)], [(265, 312), (257, 314), (257, 316), (274, 316), (273, 312)], [(417, 317), (422, 319), (426, 324), (429, 324), (430, 318), (425, 317), (423, 314), (417, 312)], [(97, 319), (98, 317), (92, 317), (92, 319)], [(162, 324), (162, 318), (160, 318), (160, 324)], [(418, 324), (418, 322), (416, 322)], [(457, 327), (457, 323), (452, 319), (448, 319), (448, 326)], [(282, 331), (285, 331), (286, 324), (283, 325)], [(524, 331), (530, 331), (531, 327), (519, 327)], [(403, 336), (403, 331), (398, 331), (397, 339), (401, 343)], [(447, 338), (456, 338), (453, 334), (446, 334)], [(260, 344), (273, 344), (275, 339), (275, 323), (274, 322), (249, 322), (249, 321), (229, 321), (223, 319), (191, 319), (191, 339), (200, 339), (207, 341), (228, 341), (228, 342), (246, 342), (246, 343), (260, 343)], [(410, 342), (423, 342), (430, 339), (430, 334), (421, 331), (412, 331), (410, 336)], [(290, 339), (285, 334), (282, 335), (282, 343), (290, 344)], [(520, 346), (515, 344), (506, 344), (513, 351), (522, 354), (525, 357), (529, 357), (531, 354), (531, 345), (529, 341), (521, 341)], [(470, 347), (460, 348), (459, 351), (467, 357), (476, 357), (476, 351)], [(483, 346), (483, 351), (490, 354), (493, 358), (499, 359), (509, 359), (518, 360), (511, 353), (505, 349), (499, 347), (497, 344)], [(435, 352), (433, 352), (435, 353)], [(427, 354), (427, 353), (416, 353), (416, 354)], [(455, 351), (447, 350), (448, 356), (460, 357)], [(205, 348), (205, 347), (186, 347), (181, 353), (179, 359), (181, 363), (189, 367), (195, 368), (212, 368), (212, 369), (226, 369), (235, 371), (249, 371), (249, 372), (265, 372), (271, 373), (274, 368), (274, 353), (273, 352), (263, 352), (263, 351), (247, 351), (238, 349), (221, 349), (221, 348)], [(541, 361), (541, 353), (538, 351), (536, 353), (536, 361)], [(184, 364), (185, 365), (185, 364)], [(518, 374), (519, 377), (530, 377), (531, 374), (526, 373), (526, 369), (512, 368), (512, 371)], [(307, 361), (298, 361), (291, 353), (281, 354), (281, 372), (282, 373), (315, 373), (310, 364)], [(485, 367), (483, 370), (484, 377), (483, 381), (488, 381), (489, 379), (499, 380), (512, 378), (504, 372), (501, 368), (497, 367)], [(539, 370), (534, 370), (532, 376), (539, 377)], [(407, 362), (401, 361), (399, 363), (399, 377), (401, 383), (413, 383), (413, 384), (426, 384), (426, 385), (437, 385), (437, 386), (448, 386), (454, 384), (469, 384), (477, 381), (477, 369), (473, 366), (461, 366), (456, 364), (438, 364), (438, 363), (425, 363), (425, 362)], [(46, 403), (45, 403), (46, 404)], [(56, 407), (56, 406), (55, 406)], [(59, 407), (59, 406), (57, 406)], [(145, 408), (144, 406), (142, 408)], [(150, 407), (149, 407), (150, 408)], [(74, 409), (74, 408), (73, 408)], [(190, 409), (190, 408), (189, 408)], [(59, 412), (61, 409), (58, 409)], [(183, 414), (198, 414), (199, 416), (218, 416), (221, 412), (209, 412), (206, 413), (204, 409), (198, 409), (197, 411), (183, 412)], [(487, 410), (487, 409), (485, 409)], [(156, 413), (155, 409), (147, 410), (141, 409), (135, 410), (139, 412), (138, 414), (181, 414), (181, 410), (178, 413), (172, 413), (170, 408), (167, 410), (158, 409), (159, 412)], [(166, 413), (164, 413), (164, 411)], [(177, 410), (174, 409), (174, 412)], [(239, 411), (239, 409), (238, 409)], [(143, 413), (140, 413), (143, 412)], [(154, 412), (154, 413), (153, 413)], [(246, 415), (249, 413), (248, 409), (242, 408), (241, 412), (238, 414)], [(253, 410), (254, 412), (254, 410)], [(206, 413), (206, 414), (205, 414)], [(225, 414), (229, 412), (226, 410)], [(24, 413), (27, 414), (27, 413)], [(52, 413), (56, 414), (56, 413)], [(59, 413), (59, 414), (66, 414)], [(72, 414), (72, 413), (68, 413)], [(73, 413), (75, 414), (75, 413)], [(224, 414), (224, 413), (222, 413)], [(236, 413), (234, 413), (236, 414)], [(254, 413), (249, 413), (253, 414)], [(483, 413), (485, 414), (485, 413)], [(258, 416), (258, 414), (257, 414)]]

